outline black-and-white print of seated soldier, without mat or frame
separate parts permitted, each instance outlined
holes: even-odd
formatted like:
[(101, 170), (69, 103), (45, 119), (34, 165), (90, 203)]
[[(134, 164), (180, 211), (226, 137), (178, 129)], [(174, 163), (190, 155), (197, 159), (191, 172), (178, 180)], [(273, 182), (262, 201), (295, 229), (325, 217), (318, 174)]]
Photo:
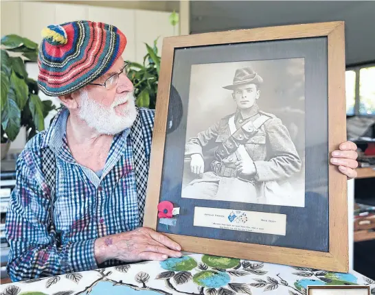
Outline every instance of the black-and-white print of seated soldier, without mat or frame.
[(304, 66), (192, 65), (182, 198), (304, 207)]

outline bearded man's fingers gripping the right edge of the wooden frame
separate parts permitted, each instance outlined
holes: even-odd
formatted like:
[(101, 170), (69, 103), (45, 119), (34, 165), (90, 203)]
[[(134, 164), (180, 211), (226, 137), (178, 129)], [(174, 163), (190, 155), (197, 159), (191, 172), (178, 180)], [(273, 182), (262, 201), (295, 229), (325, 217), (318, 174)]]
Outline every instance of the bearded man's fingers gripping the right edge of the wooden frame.
[(332, 152), (331, 163), (339, 166), (340, 172), (348, 176), (348, 178), (356, 178), (357, 173), (354, 170), (358, 167), (356, 144), (352, 141), (346, 141), (341, 143), (339, 148), (340, 150)]

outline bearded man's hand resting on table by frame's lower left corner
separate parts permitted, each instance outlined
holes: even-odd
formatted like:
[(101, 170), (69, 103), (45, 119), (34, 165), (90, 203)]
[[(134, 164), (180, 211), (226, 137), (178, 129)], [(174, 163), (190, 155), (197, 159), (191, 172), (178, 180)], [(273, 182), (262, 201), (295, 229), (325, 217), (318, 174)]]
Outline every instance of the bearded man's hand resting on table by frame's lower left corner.
[(125, 262), (141, 260), (163, 261), (181, 257), (181, 246), (150, 228), (108, 235), (95, 240), (95, 259), (98, 264), (117, 259)]

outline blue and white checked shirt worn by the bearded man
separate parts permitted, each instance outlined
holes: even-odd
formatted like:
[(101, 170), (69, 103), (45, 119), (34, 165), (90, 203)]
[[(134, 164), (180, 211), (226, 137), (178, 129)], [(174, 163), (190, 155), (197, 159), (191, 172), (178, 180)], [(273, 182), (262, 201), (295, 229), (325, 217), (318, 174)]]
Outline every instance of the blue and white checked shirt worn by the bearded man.
[[(16, 187), (5, 226), (12, 281), (99, 268), (95, 239), (139, 226), (130, 130), (114, 137), (99, 178), (71, 156), (65, 136), (68, 115), (67, 109), (62, 110), (47, 131), (27, 142), (17, 160)], [(139, 115), (150, 127), (142, 126), (149, 160), (154, 111), (140, 108)], [(48, 231), (51, 202), (41, 169), (43, 147), (56, 154), (54, 224), (59, 241)], [(104, 266), (117, 263), (106, 261)]]

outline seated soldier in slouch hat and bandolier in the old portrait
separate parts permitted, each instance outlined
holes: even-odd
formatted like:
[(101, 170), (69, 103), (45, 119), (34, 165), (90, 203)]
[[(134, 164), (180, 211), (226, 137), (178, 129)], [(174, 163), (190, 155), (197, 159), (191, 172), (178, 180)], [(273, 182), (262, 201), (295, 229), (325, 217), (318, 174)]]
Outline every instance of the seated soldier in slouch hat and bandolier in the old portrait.
[[(191, 172), (200, 177), (182, 191), (182, 198), (268, 204), (293, 193), (288, 182), (302, 161), (282, 121), (257, 104), (263, 80), (253, 69), (237, 69), (233, 84), (236, 113), (199, 132), (185, 145)], [(203, 152), (214, 148), (207, 169)], [(206, 169), (205, 169), (206, 168)], [(276, 200), (277, 203), (277, 200)]]

